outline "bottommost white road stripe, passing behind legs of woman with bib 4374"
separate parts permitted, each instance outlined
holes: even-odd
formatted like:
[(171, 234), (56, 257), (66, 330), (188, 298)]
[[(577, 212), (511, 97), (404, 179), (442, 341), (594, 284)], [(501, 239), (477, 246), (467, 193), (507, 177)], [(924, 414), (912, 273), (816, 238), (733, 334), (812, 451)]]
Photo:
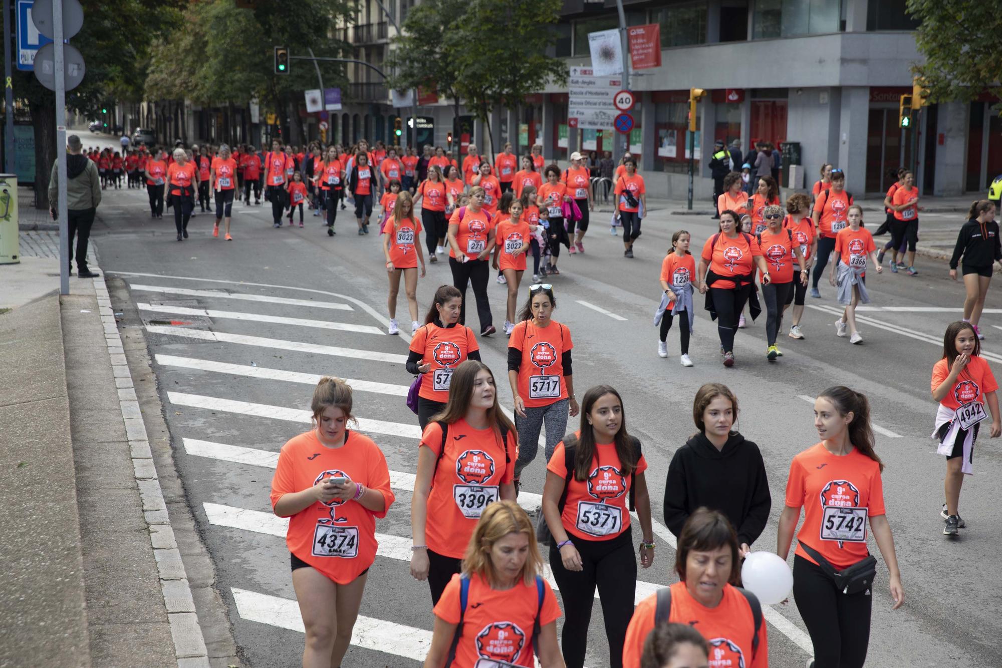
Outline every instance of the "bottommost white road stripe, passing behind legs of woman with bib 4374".
[[(300, 606), (296, 601), (245, 589), (229, 590), (242, 619), (280, 629), (305, 633)], [(352, 631), (352, 645), (424, 661), (432, 644), (432, 632), (359, 615)]]

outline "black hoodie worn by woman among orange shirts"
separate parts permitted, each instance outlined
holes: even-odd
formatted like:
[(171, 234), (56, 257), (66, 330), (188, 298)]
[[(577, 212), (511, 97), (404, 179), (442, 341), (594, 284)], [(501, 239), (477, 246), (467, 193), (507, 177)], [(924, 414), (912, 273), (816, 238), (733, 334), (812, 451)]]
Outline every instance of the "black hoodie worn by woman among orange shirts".
[(758, 445), (733, 431), (717, 450), (697, 433), (675, 451), (664, 485), (664, 525), (677, 537), (700, 506), (725, 515), (738, 544), (755, 543), (773, 506)]

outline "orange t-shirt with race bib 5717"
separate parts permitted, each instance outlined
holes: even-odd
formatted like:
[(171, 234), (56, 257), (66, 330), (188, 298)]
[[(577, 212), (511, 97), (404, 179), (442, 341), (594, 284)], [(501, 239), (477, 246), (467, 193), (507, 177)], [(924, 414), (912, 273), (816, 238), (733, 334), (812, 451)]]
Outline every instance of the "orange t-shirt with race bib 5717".
[(508, 347), (522, 353), (518, 367), (518, 394), (527, 408), (538, 408), (567, 398), (563, 354), (574, 347), (567, 325), (550, 320), (537, 327), (531, 320), (515, 325)]

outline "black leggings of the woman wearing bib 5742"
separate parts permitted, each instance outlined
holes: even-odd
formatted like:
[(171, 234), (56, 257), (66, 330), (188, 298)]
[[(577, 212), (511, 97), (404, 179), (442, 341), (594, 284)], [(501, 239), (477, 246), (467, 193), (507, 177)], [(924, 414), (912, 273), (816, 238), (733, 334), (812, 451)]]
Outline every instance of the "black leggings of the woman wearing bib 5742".
[(871, 591), (842, 594), (821, 567), (797, 555), (794, 600), (811, 634), (815, 668), (863, 667), (870, 643)]

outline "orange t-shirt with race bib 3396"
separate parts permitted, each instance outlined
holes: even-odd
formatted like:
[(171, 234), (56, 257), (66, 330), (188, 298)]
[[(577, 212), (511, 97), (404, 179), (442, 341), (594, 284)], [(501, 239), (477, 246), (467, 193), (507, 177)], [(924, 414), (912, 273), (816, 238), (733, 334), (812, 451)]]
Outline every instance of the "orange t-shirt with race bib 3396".
[[(442, 450), (442, 425), (429, 422), (418, 447), (436, 457)], [(425, 543), (436, 554), (462, 559), (480, 514), (501, 498), (500, 485), (515, 476), (518, 433), (508, 432), (505, 452), (501, 433), (494, 427), (474, 429), (465, 419), (449, 425), (445, 453), (438, 460), (428, 494)]]

